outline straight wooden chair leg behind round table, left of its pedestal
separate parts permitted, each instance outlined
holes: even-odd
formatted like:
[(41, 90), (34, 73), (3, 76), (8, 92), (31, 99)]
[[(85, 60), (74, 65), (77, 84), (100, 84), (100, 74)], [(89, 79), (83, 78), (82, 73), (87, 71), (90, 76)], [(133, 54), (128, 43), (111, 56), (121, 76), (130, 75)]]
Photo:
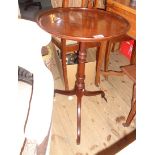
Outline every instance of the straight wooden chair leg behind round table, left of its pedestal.
[(65, 90), (69, 90), (68, 78), (67, 78), (67, 65), (66, 65), (66, 40), (61, 39), (62, 47), (61, 47), (61, 56), (62, 56), (62, 70), (63, 70), (63, 78)]

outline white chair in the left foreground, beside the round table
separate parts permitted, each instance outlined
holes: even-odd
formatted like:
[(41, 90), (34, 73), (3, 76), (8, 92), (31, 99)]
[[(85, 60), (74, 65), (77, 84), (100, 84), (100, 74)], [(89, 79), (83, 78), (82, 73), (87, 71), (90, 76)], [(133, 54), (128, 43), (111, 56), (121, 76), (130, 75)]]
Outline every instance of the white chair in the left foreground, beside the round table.
[(17, 29), (19, 116), (15, 120), (16, 153), (11, 154), (48, 155), (54, 80), (43, 62), (41, 48), (50, 42), (51, 36), (35, 22), (24, 19), (18, 19)]

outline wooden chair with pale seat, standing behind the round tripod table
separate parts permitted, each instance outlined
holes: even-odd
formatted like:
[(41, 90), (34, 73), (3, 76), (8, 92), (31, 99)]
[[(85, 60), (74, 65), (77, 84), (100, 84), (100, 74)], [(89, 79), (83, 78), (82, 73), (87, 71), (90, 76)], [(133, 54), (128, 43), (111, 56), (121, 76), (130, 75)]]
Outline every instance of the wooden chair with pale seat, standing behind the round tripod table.
[[(99, 0), (81, 0), (81, 7), (88, 7), (88, 8), (96, 8), (98, 5)], [(62, 1), (62, 7), (68, 7), (69, 0)], [(67, 79), (67, 65), (66, 65), (66, 54), (78, 51), (79, 50), (79, 43), (76, 41), (60, 39), (58, 37), (52, 37), (52, 42), (59, 48), (61, 51), (61, 58), (62, 58), (62, 70), (63, 70), (63, 79), (65, 90), (69, 90), (68, 79)], [(99, 50), (100, 43), (87, 43), (87, 48), (97, 47)], [(65, 51), (65, 52), (64, 52)]]

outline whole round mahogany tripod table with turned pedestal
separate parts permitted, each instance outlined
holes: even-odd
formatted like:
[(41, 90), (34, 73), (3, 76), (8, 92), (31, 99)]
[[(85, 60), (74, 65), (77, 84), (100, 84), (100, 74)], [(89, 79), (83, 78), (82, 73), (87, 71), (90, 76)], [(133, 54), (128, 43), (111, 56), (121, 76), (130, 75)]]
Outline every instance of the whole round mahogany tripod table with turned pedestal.
[[(100, 42), (97, 63), (102, 63), (103, 59), (98, 58), (104, 56), (104, 51), (102, 51), (104, 43), (112, 38), (126, 34), (130, 24), (125, 18), (114, 13), (102, 9), (80, 7), (52, 8), (42, 11), (37, 15), (36, 22), (53, 36), (79, 42), (75, 87), (73, 90), (67, 91), (55, 89), (55, 93), (77, 96), (76, 142), (80, 144), (82, 97), (101, 95), (107, 101), (104, 91), (88, 91), (85, 89), (85, 77), (87, 76), (85, 75), (86, 44), (88, 42)], [(96, 70), (99, 69), (96, 68)]]

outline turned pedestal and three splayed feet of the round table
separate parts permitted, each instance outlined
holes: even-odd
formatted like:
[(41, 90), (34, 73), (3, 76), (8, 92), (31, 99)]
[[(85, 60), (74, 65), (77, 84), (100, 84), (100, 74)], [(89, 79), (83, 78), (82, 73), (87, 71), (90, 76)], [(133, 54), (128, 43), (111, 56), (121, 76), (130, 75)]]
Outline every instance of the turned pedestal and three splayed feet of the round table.
[[(55, 93), (63, 95), (76, 95), (77, 96), (77, 144), (80, 144), (81, 137), (81, 101), (82, 96), (94, 96), (101, 95), (105, 100), (105, 93), (103, 91), (87, 91), (85, 90), (85, 62), (86, 62), (86, 45), (85, 42), (80, 43), (80, 50), (78, 54), (78, 68), (76, 75), (75, 88), (70, 91), (66, 90), (55, 90)], [(107, 101), (107, 100), (106, 100)]]

